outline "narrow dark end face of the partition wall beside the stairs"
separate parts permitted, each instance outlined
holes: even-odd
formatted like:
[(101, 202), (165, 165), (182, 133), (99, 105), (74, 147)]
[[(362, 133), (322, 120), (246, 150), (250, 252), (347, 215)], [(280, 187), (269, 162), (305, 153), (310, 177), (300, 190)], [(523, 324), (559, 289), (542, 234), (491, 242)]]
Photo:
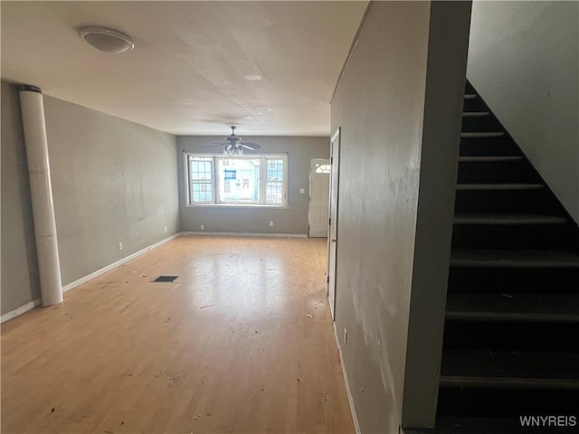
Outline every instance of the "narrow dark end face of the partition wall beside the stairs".
[(471, 2), (432, 2), (403, 426), (434, 426)]

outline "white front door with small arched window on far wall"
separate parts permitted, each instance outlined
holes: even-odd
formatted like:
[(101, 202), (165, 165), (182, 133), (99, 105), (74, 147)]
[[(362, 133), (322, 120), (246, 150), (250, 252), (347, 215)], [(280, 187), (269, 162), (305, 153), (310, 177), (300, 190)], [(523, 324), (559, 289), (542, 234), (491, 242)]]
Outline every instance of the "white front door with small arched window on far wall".
[(309, 165), (309, 236), (327, 237), (329, 160), (313, 158)]

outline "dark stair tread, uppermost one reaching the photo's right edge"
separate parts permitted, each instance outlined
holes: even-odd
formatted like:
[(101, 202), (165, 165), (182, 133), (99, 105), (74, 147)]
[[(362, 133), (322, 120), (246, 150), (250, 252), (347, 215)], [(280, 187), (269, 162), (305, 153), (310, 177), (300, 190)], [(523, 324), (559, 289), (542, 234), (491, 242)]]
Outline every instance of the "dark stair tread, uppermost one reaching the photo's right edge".
[(579, 269), (579, 255), (559, 250), (452, 250), (451, 267)]

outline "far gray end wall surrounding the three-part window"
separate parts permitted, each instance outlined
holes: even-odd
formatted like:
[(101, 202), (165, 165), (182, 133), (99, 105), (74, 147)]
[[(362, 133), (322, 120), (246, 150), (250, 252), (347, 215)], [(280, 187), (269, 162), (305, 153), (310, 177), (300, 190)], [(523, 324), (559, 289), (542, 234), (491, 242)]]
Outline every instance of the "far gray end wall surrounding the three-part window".
[[(309, 161), (329, 156), (328, 137), (245, 137), (263, 154), (288, 154), (288, 209), (185, 207), (184, 152), (207, 153), (223, 137), (177, 137), (179, 208), (182, 231), (308, 234)], [(219, 150), (217, 151), (219, 152)], [(306, 193), (299, 193), (304, 188)], [(270, 221), (274, 226), (270, 227)]]

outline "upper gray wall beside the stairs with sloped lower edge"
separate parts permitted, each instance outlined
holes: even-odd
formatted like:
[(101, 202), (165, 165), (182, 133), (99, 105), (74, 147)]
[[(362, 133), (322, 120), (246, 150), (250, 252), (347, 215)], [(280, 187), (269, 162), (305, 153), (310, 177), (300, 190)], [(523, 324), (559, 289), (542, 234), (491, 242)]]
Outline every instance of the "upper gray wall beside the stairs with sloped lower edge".
[(579, 3), (474, 2), (467, 76), (579, 222)]

